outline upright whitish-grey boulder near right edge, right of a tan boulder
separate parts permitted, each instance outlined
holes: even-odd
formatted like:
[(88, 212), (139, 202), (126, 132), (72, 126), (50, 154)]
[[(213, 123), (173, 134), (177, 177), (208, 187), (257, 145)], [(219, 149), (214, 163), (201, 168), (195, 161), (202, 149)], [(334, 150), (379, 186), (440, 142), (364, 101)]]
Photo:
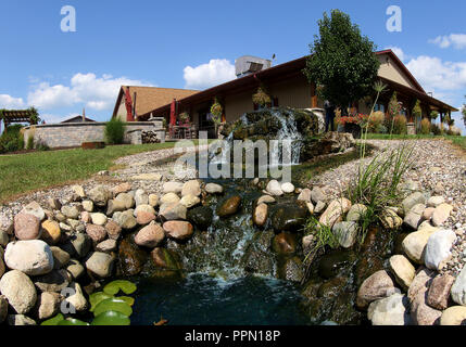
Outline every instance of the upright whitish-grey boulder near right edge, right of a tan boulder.
[(440, 230), (433, 233), (426, 245), (426, 267), (432, 270), (443, 268), (445, 261), (452, 257), (452, 247), (456, 242), (456, 233), (453, 230)]

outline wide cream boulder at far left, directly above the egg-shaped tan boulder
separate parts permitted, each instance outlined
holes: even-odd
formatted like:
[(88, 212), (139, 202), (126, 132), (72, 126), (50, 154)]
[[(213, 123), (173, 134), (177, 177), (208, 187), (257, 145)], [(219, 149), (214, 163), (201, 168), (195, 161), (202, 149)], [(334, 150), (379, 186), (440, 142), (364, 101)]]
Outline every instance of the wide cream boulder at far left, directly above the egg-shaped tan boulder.
[(53, 254), (49, 245), (41, 240), (10, 243), (4, 260), (10, 269), (29, 275), (46, 274), (53, 270)]

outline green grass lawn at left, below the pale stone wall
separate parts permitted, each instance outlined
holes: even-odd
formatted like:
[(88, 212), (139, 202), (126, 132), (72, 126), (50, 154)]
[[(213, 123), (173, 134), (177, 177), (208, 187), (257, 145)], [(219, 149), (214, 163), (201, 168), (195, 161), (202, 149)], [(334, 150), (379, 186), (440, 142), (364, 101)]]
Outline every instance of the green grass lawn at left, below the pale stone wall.
[(112, 167), (118, 157), (173, 147), (174, 142), (114, 145), (0, 156), (0, 202), (17, 194), (84, 180)]

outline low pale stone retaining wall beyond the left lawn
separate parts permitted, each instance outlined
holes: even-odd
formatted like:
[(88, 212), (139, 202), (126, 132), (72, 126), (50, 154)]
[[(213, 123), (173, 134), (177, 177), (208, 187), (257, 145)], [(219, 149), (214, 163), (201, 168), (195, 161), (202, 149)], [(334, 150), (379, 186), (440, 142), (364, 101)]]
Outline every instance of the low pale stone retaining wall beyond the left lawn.
[[(161, 119), (154, 121), (127, 123), (125, 143), (141, 144), (141, 131), (155, 131), (161, 142), (165, 142), (165, 130)], [(24, 142), (34, 137), (34, 143), (39, 141), (53, 147), (80, 146), (83, 142), (103, 142), (105, 123), (61, 123), (26, 127)]]

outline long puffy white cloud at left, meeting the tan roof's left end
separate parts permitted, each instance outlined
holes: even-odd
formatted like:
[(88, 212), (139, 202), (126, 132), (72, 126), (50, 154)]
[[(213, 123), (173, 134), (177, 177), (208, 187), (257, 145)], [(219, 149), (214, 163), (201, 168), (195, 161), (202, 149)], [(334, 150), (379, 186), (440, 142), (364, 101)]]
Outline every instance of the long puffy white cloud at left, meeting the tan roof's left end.
[(70, 86), (41, 82), (29, 92), (28, 104), (40, 110), (53, 110), (83, 106), (103, 111), (111, 110), (115, 104), (121, 86), (150, 86), (140, 80), (126, 77), (113, 78), (111, 75), (97, 77), (95, 74), (76, 74)]

